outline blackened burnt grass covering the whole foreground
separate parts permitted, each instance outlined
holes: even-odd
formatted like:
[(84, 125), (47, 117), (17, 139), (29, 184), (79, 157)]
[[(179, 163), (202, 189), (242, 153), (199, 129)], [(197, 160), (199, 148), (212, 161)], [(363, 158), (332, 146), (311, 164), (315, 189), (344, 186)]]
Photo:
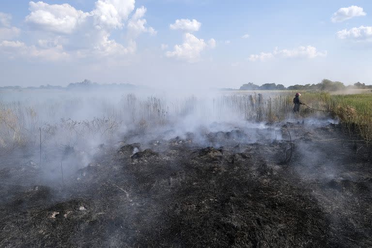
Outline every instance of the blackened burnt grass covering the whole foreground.
[(372, 247), (365, 149), (335, 125), (286, 126), (290, 161), (284, 127), (256, 143), (241, 130), (207, 145), (124, 137), (64, 185), (4, 159), (0, 247)]

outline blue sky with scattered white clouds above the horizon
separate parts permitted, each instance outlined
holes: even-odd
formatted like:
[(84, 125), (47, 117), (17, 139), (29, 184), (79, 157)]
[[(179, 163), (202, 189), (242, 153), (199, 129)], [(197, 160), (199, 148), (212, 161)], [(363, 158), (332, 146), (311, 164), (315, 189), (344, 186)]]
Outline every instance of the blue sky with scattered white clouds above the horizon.
[(0, 86), (372, 84), (370, 0), (0, 0)]

